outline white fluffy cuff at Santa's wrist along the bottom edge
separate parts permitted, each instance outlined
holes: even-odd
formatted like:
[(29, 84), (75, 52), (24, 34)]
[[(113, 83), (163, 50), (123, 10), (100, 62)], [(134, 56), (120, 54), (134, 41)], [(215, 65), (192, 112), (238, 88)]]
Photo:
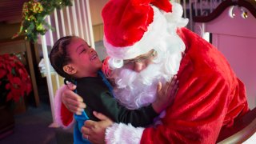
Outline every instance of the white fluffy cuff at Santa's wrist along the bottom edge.
[(140, 143), (144, 128), (131, 124), (114, 123), (106, 129), (105, 141), (107, 144), (137, 144)]

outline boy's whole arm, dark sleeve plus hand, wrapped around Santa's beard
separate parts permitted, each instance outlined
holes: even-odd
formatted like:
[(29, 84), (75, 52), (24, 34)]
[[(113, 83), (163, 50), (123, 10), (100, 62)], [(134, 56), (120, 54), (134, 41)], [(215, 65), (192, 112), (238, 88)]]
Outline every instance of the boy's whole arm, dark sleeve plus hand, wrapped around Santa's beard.
[[(82, 83), (78, 84), (82, 85)], [(166, 83), (166, 86), (158, 88), (158, 97), (155, 102), (138, 110), (129, 110), (119, 104), (113, 94), (106, 90), (105, 86), (98, 82), (90, 82), (90, 86), (87, 84), (85, 87), (78, 85), (78, 94), (84, 96), (83, 98), (88, 106), (86, 111), (89, 112), (89, 115), (92, 110), (98, 111), (111, 118), (114, 122), (131, 123), (135, 127), (148, 126), (153, 123), (154, 118), (172, 102), (178, 88), (177, 78), (175, 77), (172, 82)], [(166, 91), (172, 92), (166, 94)], [(96, 119), (92, 118), (92, 120)]]

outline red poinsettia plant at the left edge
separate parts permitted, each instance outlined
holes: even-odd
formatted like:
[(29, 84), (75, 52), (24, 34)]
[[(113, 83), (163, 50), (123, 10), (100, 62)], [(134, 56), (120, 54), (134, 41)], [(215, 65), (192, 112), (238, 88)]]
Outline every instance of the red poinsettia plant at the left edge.
[(30, 75), (14, 54), (0, 55), (0, 105), (19, 102), (31, 91)]

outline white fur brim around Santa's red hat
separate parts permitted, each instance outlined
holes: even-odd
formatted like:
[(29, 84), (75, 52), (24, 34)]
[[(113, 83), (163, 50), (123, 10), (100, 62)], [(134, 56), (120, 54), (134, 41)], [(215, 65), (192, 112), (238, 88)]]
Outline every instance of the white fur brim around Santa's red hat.
[(144, 33), (141, 40), (136, 42), (133, 46), (117, 47), (112, 46), (107, 42), (106, 38), (103, 38), (104, 45), (106, 46), (106, 52), (111, 58), (115, 59), (130, 59), (135, 58), (138, 55), (145, 54), (162, 38), (162, 30), (166, 29), (167, 22), (160, 10), (155, 6), (152, 6), (154, 10), (154, 21), (148, 26), (148, 30)]

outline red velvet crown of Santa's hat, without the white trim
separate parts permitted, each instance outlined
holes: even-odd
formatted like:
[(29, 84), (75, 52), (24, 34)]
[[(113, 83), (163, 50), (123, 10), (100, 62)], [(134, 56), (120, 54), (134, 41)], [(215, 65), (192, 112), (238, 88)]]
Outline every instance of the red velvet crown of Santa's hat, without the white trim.
[[(104, 35), (113, 46), (132, 46), (153, 20), (148, 0), (110, 0), (102, 10)], [(132, 24), (132, 25), (131, 25)]]

